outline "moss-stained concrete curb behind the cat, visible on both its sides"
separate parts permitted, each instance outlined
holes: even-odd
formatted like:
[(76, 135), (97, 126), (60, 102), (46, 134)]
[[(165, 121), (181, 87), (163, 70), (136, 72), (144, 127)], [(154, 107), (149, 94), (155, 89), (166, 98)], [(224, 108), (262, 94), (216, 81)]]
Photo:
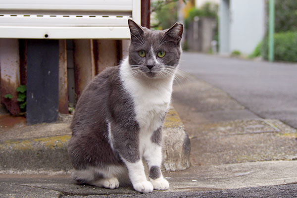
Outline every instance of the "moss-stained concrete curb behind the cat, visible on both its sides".
[[(67, 155), (67, 143), (71, 138), (68, 124), (50, 123), (18, 126), (30, 131), (25, 139), (2, 139), (0, 142), (0, 173), (4, 174), (61, 174), (72, 169)], [(45, 135), (44, 130), (53, 131), (53, 136)], [(8, 130), (8, 129), (7, 129)], [(15, 130), (15, 129), (13, 129)], [(13, 131), (12, 130), (12, 131)], [(62, 134), (64, 132), (64, 134)], [(51, 133), (51, 132), (49, 132)], [(38, 137), (41, 134), (42, 137)], [(190, 139), (184, 125), (174, 109), (168, 113), (163, 127), (163, 166), (164, 171), (184, 170), (190, 167)]]

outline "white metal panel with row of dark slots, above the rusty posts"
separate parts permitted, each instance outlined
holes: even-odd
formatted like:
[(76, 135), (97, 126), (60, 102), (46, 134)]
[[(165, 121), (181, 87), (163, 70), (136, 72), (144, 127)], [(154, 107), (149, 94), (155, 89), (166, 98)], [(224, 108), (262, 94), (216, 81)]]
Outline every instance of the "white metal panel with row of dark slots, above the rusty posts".
[(129, 39), (141, 0), (0, 0), (0, 38)]

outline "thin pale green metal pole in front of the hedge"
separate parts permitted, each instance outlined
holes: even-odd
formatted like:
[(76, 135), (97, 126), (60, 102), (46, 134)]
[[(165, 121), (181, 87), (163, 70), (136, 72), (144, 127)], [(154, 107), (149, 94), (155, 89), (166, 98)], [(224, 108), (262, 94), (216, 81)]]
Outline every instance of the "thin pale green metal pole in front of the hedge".
[(274, 60), (274, 0), (269, 0), (269, 35), (268, 35), (268, 59)]

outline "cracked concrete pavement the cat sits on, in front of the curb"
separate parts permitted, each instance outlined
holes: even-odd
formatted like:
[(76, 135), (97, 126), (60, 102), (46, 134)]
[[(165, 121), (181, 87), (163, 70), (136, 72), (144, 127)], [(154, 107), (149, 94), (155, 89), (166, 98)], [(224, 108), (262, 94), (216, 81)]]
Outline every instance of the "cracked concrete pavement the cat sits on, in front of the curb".
[(164, 173), (168, 191), (143, 195), (131, 187), (80, 186), (69, 174), (2, 174), (0, 197), (297, 197), (297, 130), (259, 118), (189, 74), (178, 78), (173, 106), (189, 133), (192, 166)]

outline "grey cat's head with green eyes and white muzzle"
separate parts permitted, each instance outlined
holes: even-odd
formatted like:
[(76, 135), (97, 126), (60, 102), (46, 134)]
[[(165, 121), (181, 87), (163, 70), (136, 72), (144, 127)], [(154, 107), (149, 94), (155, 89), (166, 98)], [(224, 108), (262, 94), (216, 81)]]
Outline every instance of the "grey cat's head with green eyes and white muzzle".
[(148, 78), (168, 78), (177, 69), (184, 26), (174, 24), (166, 30), (149, 30), (128, 20), (131, 43), (129, 64), (133, 74)]

